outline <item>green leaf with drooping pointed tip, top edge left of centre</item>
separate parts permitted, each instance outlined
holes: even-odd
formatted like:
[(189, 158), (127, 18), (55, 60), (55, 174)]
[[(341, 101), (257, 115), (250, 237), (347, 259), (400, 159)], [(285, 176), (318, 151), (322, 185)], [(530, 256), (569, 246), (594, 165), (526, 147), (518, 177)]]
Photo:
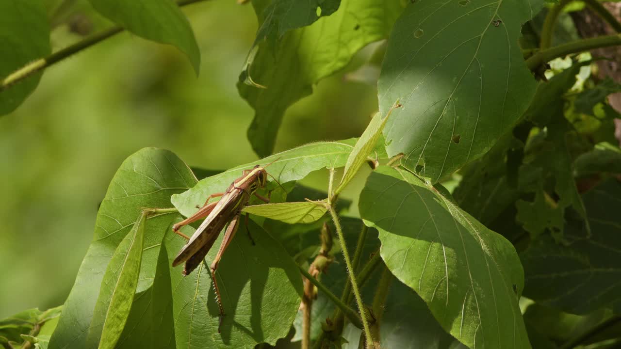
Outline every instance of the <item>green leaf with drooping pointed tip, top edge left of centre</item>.
[(201, 66), (194, 32), (188, 19), (173, 0), (89, 0), (112, 22), (155, 42), (168, 43), (185, 53), (198, 74)]

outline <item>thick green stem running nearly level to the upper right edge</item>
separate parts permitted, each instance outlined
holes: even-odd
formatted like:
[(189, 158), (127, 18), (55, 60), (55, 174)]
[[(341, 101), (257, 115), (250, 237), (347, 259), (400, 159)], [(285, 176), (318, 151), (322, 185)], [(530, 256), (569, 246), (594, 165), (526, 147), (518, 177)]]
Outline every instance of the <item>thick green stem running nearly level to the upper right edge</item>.
[(617, 45), (621, 45), (621, 34), (604, 35), (591, 39), (578, 40), (539, 51), (526, 60), (526, 65), (530, 70), (536, 70), (538, 66), (543, 63), (547, 63), (548, 61), (558, 57), (564, 57), (566, 55), (570, 55), (571, 53), (584, 52), (594, 48)]

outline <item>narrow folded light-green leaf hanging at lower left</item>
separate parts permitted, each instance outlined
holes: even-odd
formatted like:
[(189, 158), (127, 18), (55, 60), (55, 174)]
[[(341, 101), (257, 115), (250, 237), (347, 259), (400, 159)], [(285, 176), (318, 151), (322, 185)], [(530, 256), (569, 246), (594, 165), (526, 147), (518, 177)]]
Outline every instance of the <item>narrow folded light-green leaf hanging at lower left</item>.
[(114, 349), (125, 327), (138, 286), (145, 220), (146, 213), (138, 216), (108, 263), (88, 333), (88, 347)]

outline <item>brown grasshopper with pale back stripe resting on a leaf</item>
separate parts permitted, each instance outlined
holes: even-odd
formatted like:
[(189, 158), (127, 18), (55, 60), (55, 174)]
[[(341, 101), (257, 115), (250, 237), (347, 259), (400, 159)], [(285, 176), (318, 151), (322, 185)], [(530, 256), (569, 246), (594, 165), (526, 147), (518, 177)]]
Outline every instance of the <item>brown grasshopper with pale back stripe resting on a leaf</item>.
[[(276, 160), (274, 160), (276, 161)], [(272, 161), (273, 162), (273, 161)], [(268, 164), (265, 167), (271, 165)], [(265, 188), (267, 184), (268, 173), (264, 167), (256, 165), (250, 170), (244, 170), (240, 178), (235, 179), (230, 184), (229, 188), (224, 193), (214, 193), (207, 197), (207, 201), (204, 206), (199, 209), (195, 214), (191, 215), (187, 219), (173, 225), (173, 231), (182, 237), (188, 239), (188, 243), (181, 248), (175, 260), (173, 266), (178, 266), (185, 262), (183, 274), (188, 275), (197, 266), (199, 266), (204, 260), (205, 256), (214, 245), (220, 232), (224, 227), (229, 224), (225, 233), (220, 249), (211, 263), (211, 276), (214, 281), (214, 289), (216, 294), (216, 301), (220, 313), (220, 325), (222, 325), (222, 319), (224, 317), (224, 308), (222, 307), (222, 301), (220, 297), (220, 290), (218, 288), (217, 281), (215, 279), (215, 271), (218, 268), (218, 263), (224, 254), (224, 251), (229, 246), (235, 232), (239, 225), (240, 215), (243, 207), (247, 206), (250, 197), (254, 194), (256, 197), (265, 202), (270, 202), (268, 198), (260, 196), (256, 193), (259, 188)], [(274, 178), (275, 180), (275, 178)], [(219, 201), (209, 202), (212, 197), (221, 196)], [(194, 235), (191, 238), (186, 237), (183, 233), (179, 232), (179, 229), (184, 225), (188, 225), (196, 220), (205, 218), (202, 224), (196, 229)], [(248, 224), (248, 214), (246, 215), (246, 224)], [(248, 229), (248, 227), (246, 227)], [(250, 231), (248, 230), (248, 236), (250, 237)], [(250, 237), (252, 240), (252, 237)], [(254, 241), (253, 241), (254, 244)], [(220, 332), (220, 326), (218, 327)]]

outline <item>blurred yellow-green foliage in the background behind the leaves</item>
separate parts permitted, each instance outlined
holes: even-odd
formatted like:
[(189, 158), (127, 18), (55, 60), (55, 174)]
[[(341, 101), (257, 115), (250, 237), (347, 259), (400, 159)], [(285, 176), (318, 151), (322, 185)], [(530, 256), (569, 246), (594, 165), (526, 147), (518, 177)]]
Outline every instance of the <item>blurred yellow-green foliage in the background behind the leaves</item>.
[[(0, 274), (9, 280), (0, 318), (63, 303), (109, 181), (136, 150), (167, 148), (210, 169), (256, 159), (246, 137), (253, 110), (235, 88), (256, 34), (252, 7), (220, 0), (184, 12), (201, 49), (198, 78), (175, 48), (125, 32), (48, 69), (35, 93), (0, 119)], [(76, 32), (110, 25), (85, 0), (50, 11), (50, 22), (54, 50), (80, 40)], [(277, 152), (361, 134), (376, 91), (343, 74), (368, 54), (288, 110)], [(323, 185), (324, 174), (306, 179), (313, 182)]]

